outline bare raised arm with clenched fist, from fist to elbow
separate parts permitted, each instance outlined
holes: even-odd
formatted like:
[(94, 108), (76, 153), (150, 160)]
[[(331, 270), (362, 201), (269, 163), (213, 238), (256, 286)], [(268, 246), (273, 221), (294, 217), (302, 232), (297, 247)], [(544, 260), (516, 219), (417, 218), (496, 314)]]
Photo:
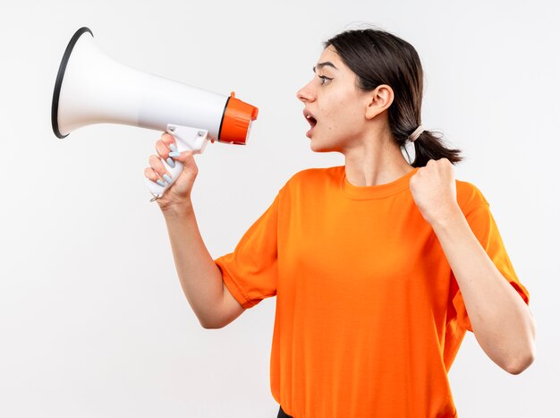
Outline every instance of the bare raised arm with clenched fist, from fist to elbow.
[(479, 345), (502, 369), (521, 373), (535, 357), (535, 322), (462, 213), (452, 163), (430, 159), (412, 176), (410, 186), (453, 270)]

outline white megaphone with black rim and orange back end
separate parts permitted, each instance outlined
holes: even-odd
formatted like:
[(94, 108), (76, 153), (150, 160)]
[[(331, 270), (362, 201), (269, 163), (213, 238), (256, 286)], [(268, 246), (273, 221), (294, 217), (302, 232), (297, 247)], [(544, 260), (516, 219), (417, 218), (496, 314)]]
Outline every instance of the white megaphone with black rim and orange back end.
[[(77, 30), (58, 69), (51, 119), (58, 138), (89, 124), (127, 124), (169, 132), (178, 151), (199, 154), (208, 141), (244, 145), (259, 109), (240, 99), (143, 73), (102, 53), (89, 28)], [(148, 179), (157, 199), (182, 172), (162, 162), (171, 182)]]

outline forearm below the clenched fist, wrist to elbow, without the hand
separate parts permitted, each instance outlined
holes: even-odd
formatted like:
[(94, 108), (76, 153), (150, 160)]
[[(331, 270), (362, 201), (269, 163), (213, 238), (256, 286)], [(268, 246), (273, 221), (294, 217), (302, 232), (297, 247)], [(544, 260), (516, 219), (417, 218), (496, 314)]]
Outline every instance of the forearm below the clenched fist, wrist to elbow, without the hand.
[(534, 355), (529, 307), (490, 260), (461, 209), (432, 227), (461, 289), (479, 345), (506, 371), (523, 371)]

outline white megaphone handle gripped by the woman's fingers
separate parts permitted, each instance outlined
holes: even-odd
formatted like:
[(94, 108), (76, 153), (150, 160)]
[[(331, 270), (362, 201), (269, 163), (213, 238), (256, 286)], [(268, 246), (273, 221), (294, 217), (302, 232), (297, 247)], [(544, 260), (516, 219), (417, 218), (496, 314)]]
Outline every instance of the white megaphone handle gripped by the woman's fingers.
[[(171, 134), (175, 143), (177, 144), (177, 150), (179, 152), (191, 150), (193, 154), (201, 154), (208, 144), (208, 130), (191, 128), (190, 126), (181, 126), (177, 124), (168, 124), (167, 132)], [(147, 178), (144, 178), (148, 190), (154, 196), (154, 199), (159, 199), (162, 197), (167, 189), (171, 187), (171, 184), (175, 183), (175, 180), (182, 173), (182, 163), (175, 161), (175, 166), (169, 166), (167, 162), (161, 158), (161, 162), (165, 166), (167, 173), (171, 175), (171, 183), (165, 182), (165, 186), (161, 186)]]

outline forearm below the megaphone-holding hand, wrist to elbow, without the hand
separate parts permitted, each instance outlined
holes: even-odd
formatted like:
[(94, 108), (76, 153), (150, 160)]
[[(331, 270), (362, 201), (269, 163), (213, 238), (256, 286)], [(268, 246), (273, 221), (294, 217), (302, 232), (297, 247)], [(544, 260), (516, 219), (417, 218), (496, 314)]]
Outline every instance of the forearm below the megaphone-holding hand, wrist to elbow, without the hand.
[(202, 241), (192, 205), (163, 213), (182, 291), (200, 325), (212, 327), (224, 295), (222, 274)]

